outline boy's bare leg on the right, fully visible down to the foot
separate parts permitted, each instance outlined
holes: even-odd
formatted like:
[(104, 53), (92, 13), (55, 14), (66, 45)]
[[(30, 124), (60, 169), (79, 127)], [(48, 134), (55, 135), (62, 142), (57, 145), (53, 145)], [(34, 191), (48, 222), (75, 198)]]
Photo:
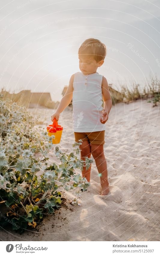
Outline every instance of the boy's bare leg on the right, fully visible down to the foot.
[(104, 156), (103, 145), (94, 145), (91, 146), (92, 155), (95, 159), (95, 163), (99, 172), (101, 188), (101, 195), (107, 195), (109, 190), (108, 182), (108, 173), (107, 173), (107, 161)]

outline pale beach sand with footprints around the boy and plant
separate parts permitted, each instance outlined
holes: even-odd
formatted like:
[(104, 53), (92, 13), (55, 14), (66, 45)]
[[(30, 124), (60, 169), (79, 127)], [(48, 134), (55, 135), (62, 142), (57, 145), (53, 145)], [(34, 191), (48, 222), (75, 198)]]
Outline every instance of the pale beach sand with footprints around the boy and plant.
[[(66, 202), (44, 218), (34, 231), (22, 235), (2, 231), (4, 241), (159, 241), (160, 134), (159, 105), (148, 100), (112, 106), (106, 123), (104, 154), (110, 193), (101, 196), (95, 161), (91, 186), (71, 205), (73, 191), (62, 192)], [(44, 127), (51, 123), (51, 109), (30, 109), (41, 114)], [(59, 145), (69, 153), (74, 143), (72, 112), (66, 108), (59, 124), (64, 127)], [(50, 163), (59, 163), (50, 151)], [(93, 159), (93, 157), (91, 156)], [(78, 171), (78, 169), (76, 169)]]

